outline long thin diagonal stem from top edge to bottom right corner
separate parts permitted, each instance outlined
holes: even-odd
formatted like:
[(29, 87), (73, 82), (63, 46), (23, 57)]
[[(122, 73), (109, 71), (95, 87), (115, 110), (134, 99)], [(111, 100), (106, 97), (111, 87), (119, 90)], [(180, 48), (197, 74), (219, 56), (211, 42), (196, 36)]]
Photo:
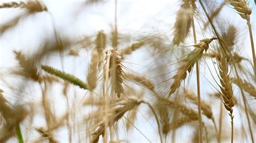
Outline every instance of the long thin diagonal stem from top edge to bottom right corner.
[[(220, 36), (219, 36), (219, 34), (218, 34), (218, 32), (217, 32), (215, 26), (213, 25), (212, 20), (211, 20), (210, 16), (208, 15), (208, 13), (207, 13), (207, 11), (206, 11), (206, 9), (205, 9), (204, 4), (202, 3), (201, 0), (199, 0), (199, 3), (200, 3), (200, 5), (202, 6), (202, 8), (203, 8), (203, 10), (204, 10), (204, 12), (205, 12), (205, 15), (207, 16), (209, 22), (211, 23), (211, 26), (212, 26), (213, 31), (214, 31), (214, 33), (216, 34), (216, 36), (217, 36), (217, 38), (218, 38), (218, 40), (219, 40), (219, 44), (221, 45), (221, 48), (223, 48), (223, 42), (221, 41)], [(224, 42), (224, 44), (225, 44), (225, 42)], [(227, 56), (227, 52), (226, 52), (226, 49), (225, 49), (225, 48), (223, 48), (223, 51), (224, 51), (224, 54)], [(230, 51), (228, 51), (228, 53), (229, 53), (230, 55), (232, 55)], [(245, 93), (244, 93), (244, 90), (242, 90), (242, 88), (241, 88), (240, 76), (239, 76), (239, 74), (238, 74), (237, 66), (235, 65), (235, 62), (234, 62), (234, 59), (233, 59), (233, 58), (231, 58), (231, 62), (232, 62), (232, 65), (233, 65), (233, 67), (234, 67), (235, 74), (236, 74), (236, 76), (238, 77), (238, 86), (239, 86), (239, 88), (240, 88), (241, 95), (242, 95), (242, 101), (244, 102), (244, 106), (245, 106), (245, 114), (246, 114), (246, 118), (247, 118), (247, 121), (248, 121), (248, 127), (249, 127), (249, 130), (250, 130), (252, 142), (254, 142), (253, 133), (252, 133), (252, 128), (251, 128), (251, 123), (250, 123), (250, 118), (249, 118), (249, 115), (248, 115), (248, 108), (247, 108), (247, 105), (246, 105)]]

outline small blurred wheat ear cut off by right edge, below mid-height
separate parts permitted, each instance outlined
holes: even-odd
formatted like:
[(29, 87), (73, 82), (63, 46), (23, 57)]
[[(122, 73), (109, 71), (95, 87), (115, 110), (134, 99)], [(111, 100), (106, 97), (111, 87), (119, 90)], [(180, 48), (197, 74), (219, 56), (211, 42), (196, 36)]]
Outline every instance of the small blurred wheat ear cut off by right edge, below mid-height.
[[(237, 78), (232, 78), (232, 81), (233, 83), (238, 84), (238, 79)], [(255, 97), (256, 98), (256, 89), (255, 87), (252, 85), (252, 83), (246, 81), (246, 80), (242, 80), (240, 79), (241, 81), (241, 89), (244, 89), (246, 92), (248, 92), (251, 96)]]

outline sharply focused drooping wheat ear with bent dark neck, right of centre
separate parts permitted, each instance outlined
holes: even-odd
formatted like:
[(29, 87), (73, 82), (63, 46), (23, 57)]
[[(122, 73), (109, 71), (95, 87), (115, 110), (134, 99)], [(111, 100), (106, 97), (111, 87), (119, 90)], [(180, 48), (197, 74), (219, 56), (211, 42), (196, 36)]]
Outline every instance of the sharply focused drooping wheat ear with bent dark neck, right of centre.
[(194, 64), (201, 59), (203, 52), (207, 51), (209, 44), (215, 39), (217, 38), (213, 37), (210, 39), (206, 38), (200, 40), (200, 42), (194, 45), (194, 50), (188, 53), (186, 57), (181, 60), (181, 66), (178, 68), (177, 74), (172, 77), (174, 81), (170, 87), (169, 97), (176, 91), (177, 88), (180, 87), (181, 81), (187, 76), (187, 71), (190, 73)]

